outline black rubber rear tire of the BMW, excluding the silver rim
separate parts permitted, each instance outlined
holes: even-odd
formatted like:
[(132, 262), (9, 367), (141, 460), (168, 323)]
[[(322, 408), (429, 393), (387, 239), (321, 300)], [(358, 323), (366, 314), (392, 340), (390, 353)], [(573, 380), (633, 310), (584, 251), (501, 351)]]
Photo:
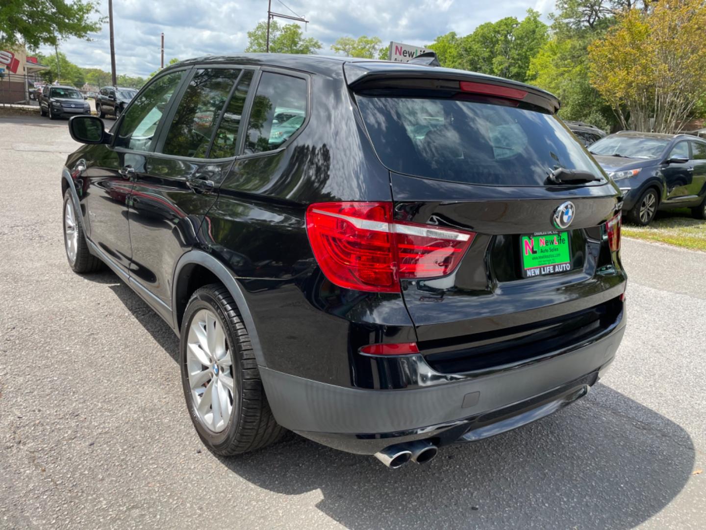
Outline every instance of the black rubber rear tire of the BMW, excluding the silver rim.
[[(230, 375), (234, 382), (232, 411), (225, 430), (221, 432), (210, 430), (203, 423), (196, 411), (189, 384), (186, 364), (189, 329), (196, 313), (202, 309), (216, 314), (225, 331), (231, 356)], [(198, 436), (212, 452), (224, 456), (243, 454), (273, 444), (287, 432), (275, 421), (270, 411), (248, 331), (232, 296), (220, 283), (205, 285), (191, 295), (181, 324), (179, 353), (181, 384), (184, 388), (186, 407)]]

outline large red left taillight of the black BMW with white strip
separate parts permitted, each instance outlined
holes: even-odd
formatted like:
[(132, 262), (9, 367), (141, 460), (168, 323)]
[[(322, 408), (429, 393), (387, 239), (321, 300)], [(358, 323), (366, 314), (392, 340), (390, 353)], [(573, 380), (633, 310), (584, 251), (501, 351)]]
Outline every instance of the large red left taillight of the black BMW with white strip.
[(306, 232), (321, 271), (335, 285), (393, 293), (400, 279), (454, 271), (474, 232), (393, 221), (390, 202), (328, 202), (306, 210)]

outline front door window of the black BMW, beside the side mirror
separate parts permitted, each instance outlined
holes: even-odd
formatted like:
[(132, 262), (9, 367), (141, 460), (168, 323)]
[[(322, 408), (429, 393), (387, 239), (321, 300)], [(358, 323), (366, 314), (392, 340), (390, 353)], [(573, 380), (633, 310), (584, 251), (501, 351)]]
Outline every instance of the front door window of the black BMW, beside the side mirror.
[(177, 90), (184, 71), (167, 73), (157, 78), (135, 98), (130, 108), (123, 114), (120, 129), (115, 140), (116, 147), (149, 151), (157, 125), (169, 105), (169, 100)]

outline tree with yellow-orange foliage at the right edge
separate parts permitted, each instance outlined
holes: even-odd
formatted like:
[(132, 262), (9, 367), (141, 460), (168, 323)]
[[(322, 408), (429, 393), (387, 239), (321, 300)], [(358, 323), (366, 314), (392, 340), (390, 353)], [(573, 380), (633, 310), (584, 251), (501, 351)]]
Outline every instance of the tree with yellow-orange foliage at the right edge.
[(673, 133), (706, 97), (706, 4), (659, 2), (631, 8), (588, 47), (590, 80), (621, 125)]

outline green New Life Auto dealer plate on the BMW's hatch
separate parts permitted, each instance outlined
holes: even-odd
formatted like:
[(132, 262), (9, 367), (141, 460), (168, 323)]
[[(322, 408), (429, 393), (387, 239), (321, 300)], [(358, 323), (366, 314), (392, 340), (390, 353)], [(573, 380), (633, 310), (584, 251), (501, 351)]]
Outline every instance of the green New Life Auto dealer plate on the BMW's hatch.
[(523, 235), (520, 237), (520, 256), (523, 278), (569, 271), (569, 232)]

